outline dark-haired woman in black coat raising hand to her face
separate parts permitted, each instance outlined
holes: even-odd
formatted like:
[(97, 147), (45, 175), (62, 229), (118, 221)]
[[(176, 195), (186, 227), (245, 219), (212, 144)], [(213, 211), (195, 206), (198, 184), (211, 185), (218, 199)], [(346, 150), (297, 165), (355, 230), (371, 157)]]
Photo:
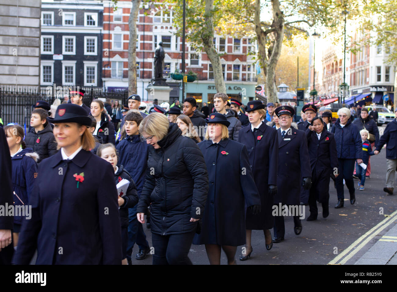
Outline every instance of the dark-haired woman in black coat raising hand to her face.
[(307, 145), (312, 169), (312, 186), (309, 192), (310, 216), (307, 221), (317, 219), (317, 200), (322, 204), (323, 217), (329, 212), (330, 178), (338, 176), (338, 157), (333, 133), (327, 131), (320, 117), (314, 117), (306, 130)]

